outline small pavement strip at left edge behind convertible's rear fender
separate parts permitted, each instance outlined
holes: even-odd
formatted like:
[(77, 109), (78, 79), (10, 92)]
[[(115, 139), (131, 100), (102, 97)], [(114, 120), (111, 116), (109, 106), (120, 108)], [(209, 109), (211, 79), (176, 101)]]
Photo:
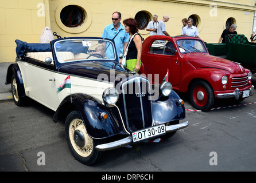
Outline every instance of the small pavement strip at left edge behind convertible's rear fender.
[(12, 99), (11, 85), (5, 85), (7, 68), (11, 62), (0, 63), (0, 101)]

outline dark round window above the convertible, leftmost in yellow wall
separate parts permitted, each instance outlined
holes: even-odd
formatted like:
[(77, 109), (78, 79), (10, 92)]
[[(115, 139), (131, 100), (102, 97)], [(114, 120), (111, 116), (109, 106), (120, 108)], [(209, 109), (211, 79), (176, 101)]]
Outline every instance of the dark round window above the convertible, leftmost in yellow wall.
[(66, 27), (78, 27), (84, 23), (86, 15), (82, 7), (68, 5), (61, 10), (60, 19)]

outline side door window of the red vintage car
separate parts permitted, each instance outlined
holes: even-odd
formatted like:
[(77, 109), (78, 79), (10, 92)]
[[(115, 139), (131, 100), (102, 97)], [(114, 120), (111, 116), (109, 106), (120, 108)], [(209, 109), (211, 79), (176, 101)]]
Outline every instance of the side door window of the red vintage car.
[(174, 55), (176, 53), (176, 50), (174, 48), (172, 41), (156, 40), (150, 46), (149, 53), (161, 55)]

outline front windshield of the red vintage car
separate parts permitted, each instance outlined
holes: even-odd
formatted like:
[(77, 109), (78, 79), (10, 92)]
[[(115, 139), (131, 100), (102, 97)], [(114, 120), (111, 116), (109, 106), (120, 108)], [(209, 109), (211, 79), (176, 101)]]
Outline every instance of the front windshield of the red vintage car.
[(179, 39), (177, 40), (177, 45), (181, 54), (192, 52), (207, 53), (203, 42), (197, 39)]

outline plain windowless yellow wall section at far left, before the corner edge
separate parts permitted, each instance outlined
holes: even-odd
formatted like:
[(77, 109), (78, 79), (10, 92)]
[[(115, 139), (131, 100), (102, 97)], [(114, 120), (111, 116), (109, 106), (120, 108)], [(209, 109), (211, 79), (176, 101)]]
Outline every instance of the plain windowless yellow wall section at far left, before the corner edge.
[(50, 26), (49, 10), (41, 14), (41, 6), (48, 5), (44, 0), (0, 1), (0, 62), (15, 61), (15, 39), (38, 42), (41, 31)]

